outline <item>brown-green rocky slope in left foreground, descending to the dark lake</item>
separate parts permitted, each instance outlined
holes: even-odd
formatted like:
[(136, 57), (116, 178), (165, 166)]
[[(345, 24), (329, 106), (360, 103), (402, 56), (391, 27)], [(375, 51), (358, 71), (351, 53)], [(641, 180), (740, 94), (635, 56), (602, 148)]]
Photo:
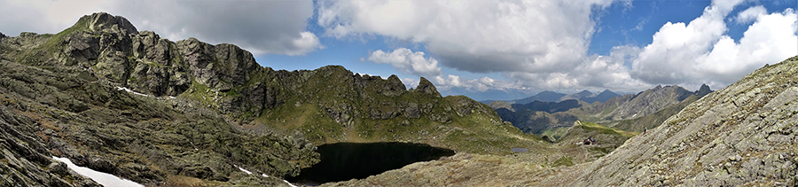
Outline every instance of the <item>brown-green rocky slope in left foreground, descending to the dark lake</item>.
[[(173, 183), (168, 180), (173, 175), (221, 184), (280, 184), (246, 178), (234, 165), (282, 177), (318, 161), (315, 146), (301, 136), (244, 134), (215, 113), (174, 107), (189, 101), (135, 95), (90, 72), (25, 66), (5, 58), (0, 69), (0, 104), (6, 116), (0, 123), (14, 127), (3, 136), (12, 146), (4, 150), (6, 161), (0, 165), (17, 170), (4, 173), (10, 180), (6, 183), (57, 185), (14, 176), (45, 168), (68, 177), (66, 171), (53, 173), (62, 164), (47, 168), (51, 155), (145, 184)], [(84, 185), (75, 182), (58, 185)]]

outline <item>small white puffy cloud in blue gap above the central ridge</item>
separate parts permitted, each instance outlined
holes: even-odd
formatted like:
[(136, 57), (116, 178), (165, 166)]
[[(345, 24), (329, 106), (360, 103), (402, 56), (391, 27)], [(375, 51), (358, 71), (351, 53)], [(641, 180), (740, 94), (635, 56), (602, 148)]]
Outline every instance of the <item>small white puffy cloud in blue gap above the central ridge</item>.
[(433, 77), (441, 74), (441, 67), (435, 58), (424, 58), (424, 52), (413, 52), (407, 48), (395, 49), (392, 52), (373, 51), (367, 58), (377, 64), (390, 64), (405, 74), (416, 74)]

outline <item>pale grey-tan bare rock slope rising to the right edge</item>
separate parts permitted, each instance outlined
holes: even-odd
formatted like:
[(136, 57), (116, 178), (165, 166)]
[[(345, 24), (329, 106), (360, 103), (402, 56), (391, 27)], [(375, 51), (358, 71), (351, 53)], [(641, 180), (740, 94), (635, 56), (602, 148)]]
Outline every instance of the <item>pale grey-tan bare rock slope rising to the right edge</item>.
[(798, 58), (748, 74), (633, 137), (572, 185), (796, 185)]

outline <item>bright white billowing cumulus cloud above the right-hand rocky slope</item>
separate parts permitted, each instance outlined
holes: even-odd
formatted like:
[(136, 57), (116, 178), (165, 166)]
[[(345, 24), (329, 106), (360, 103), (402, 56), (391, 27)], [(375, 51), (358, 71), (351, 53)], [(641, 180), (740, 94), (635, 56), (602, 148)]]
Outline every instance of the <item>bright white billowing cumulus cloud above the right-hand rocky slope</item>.
[(767, 14), (754, 7), (740, 12), (738, 21), (754, 23), (738, 42), (725, 35), (724, 18), (734, 5), (713, 2), (688, 24), (662, 26), (634, 60), (632, 77), (649, 83), (706, 82), (722, 87), (764, 64), (796, 55), (798, 16), (793, 9)]

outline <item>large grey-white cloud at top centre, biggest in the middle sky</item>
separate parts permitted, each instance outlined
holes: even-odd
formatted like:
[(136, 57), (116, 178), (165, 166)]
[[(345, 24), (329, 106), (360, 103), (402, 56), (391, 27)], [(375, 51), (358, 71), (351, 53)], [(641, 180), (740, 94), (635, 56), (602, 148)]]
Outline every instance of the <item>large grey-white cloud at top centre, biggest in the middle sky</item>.
[(592, 1), (319, 1), (325, 35), (386, 35), (441, 58), (443, 66), (487, 72), (550, 72), (575, 66), (594, 33)]

